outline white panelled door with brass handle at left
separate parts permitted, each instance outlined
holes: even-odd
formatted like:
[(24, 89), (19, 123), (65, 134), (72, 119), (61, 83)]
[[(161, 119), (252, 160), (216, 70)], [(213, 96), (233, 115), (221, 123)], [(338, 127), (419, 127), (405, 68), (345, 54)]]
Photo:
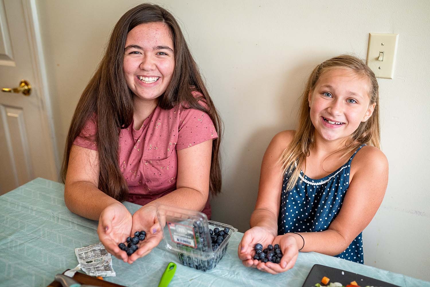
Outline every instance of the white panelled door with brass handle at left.
[(33, 4), (0, 0), (0, 88), (18, 87), (22, 79), (31, 85), (29, 96), (0, 92), (0, 194), (37, 177), (58, 178)]

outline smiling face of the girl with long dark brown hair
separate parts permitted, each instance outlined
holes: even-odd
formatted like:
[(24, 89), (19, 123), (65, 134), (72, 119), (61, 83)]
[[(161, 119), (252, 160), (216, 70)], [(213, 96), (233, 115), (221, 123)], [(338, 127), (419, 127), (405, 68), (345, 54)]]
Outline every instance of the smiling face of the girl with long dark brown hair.
[(143, 23), (129, 31), (123, 71), (126, 83), (136, 97), (155, 101), (166, 92), (174, 69), (174, 46), (165, 24)]

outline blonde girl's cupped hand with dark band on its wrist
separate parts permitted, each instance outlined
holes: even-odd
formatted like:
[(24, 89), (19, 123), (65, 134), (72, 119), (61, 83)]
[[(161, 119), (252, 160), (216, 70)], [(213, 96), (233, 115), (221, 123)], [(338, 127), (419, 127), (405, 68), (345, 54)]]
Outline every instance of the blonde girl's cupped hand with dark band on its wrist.
[(289, 233), (278, 235), (273, 240), (272, 245), (275, 244), (279, 244), (279, 248), (282, 250), (283, 256), (281, 262), (279, 262), (279, 264), (273, 262), (259, 262), (257, 265), (258, 270), (270, 274), (278, 274), (293, 268), (298, 257), (299, 249), (295, 237)]

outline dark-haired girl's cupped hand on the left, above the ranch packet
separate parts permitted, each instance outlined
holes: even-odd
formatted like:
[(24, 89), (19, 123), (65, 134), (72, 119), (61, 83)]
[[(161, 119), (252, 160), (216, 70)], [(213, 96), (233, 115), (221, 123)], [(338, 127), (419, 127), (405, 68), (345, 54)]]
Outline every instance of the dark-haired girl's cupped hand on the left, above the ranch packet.
[(127, 253), (118, 244), (125, 242), (132, 231), (132, 215), (119, 203), (108, 205), (98, 219), (97, 234), (106, 250), (118, 259), (127, 262)]

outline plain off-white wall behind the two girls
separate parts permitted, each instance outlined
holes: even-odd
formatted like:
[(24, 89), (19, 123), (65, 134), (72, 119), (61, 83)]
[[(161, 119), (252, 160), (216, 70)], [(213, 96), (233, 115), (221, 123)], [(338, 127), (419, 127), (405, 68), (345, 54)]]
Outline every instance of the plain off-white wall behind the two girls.
[[(398, 33), (395, 78), (378, 80), (390, 179), (364, 231), (365, 263), (430, 281), (430, 2), (408, 2), (158, 2), (180, 20), (224, 120), (223, 194), (212, 201), (213, 219), (249, 227), (264, 150), (296, 126), (312, 68), (345, 52), (365, 58), (369, 32)], [(136, 3), (38, 2), (59, 150), (111, 29)]]

